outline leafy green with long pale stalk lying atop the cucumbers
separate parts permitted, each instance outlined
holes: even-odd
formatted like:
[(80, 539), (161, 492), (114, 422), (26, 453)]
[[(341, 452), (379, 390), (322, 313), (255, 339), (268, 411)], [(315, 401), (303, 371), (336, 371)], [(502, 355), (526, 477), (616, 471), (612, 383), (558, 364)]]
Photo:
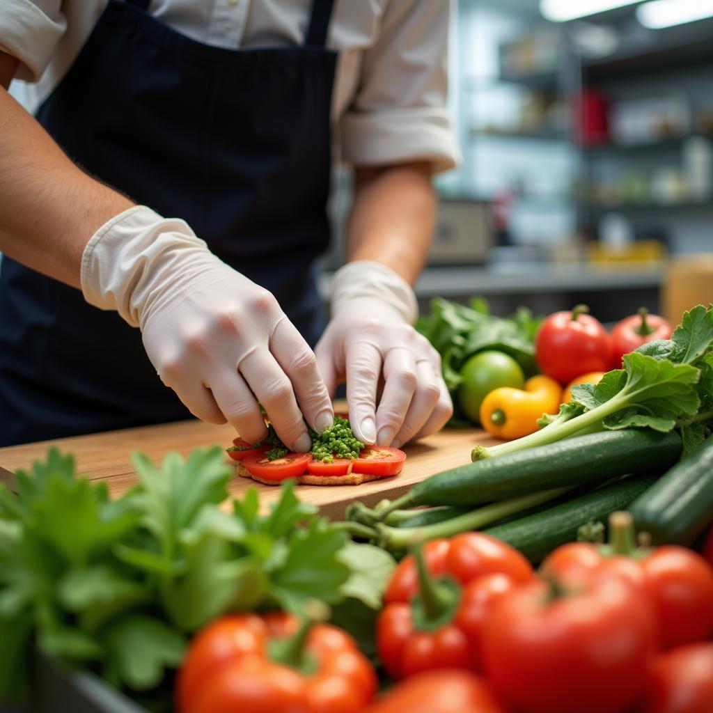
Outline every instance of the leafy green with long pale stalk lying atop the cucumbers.
[(554, 443), (597, 429), (647, 427), (682, 429), (684, 453), (707, 434), (713, 418), (713, 307), (684, 314), (671, 339), (645, 344), (624, 357), (624, 369), (610, 371), (596, 384), (572, 389), (572, 404), (543, 428), (517, 441), (478, 449), (483, 457)]

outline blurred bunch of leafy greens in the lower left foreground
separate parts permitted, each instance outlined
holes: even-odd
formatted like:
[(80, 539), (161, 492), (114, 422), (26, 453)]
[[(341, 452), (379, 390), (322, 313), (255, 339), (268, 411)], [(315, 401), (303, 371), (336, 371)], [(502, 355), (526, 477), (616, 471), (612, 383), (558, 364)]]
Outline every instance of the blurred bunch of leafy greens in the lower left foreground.
[(17, 473), (17, 494), (0, 483), (0, 700), (26, 681), (33, 645), (155, 707), (188, 636), (225, 612), (379, 607), (391, 557), (350, 542), (291, 483), (268, 515), (255, 489), (227, 513), (222, 448), (133, 464), (140, 483), (115, 501), (56, 450)]

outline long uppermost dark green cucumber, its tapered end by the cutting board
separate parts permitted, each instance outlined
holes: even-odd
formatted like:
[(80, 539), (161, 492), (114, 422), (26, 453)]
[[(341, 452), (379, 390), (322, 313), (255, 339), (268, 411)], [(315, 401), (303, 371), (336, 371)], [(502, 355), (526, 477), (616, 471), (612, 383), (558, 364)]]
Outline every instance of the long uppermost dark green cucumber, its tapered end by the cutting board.
[(681, 438), (675, 432), (627, 429), (575, 436), (438, 473), (417, 483), (381, 515), (419, 505), (483, 505), (627, 473), (665, 471), (680, 454)]

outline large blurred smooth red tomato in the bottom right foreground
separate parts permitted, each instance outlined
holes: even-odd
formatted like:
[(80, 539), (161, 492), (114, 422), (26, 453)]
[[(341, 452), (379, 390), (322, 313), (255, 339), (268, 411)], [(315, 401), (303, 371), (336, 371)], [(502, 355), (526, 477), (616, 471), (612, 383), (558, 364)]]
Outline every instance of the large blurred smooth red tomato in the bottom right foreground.
[(655, 654), (637, 588), (605, 575), (572, 592), (539, 579), (521, 585), (493, 610), (484, 642), (496, 693), (522, 713), (622, 713)]

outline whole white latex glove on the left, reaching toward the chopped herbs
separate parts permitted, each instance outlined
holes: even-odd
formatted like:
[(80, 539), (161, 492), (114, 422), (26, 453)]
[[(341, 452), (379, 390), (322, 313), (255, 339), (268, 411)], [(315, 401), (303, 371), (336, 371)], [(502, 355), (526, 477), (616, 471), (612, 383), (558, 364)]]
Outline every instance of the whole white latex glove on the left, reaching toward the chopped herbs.
[(275, 297), (183, 220), (145, 206), (120, 213), (88, 242), (81, 286), (87, 302), (140, 327), (161, 380), (199, 419), (230, 421), (257, 443), (267, 435), (259, 401), (293, 451), (311, 445), (304, 419), (316, 431), (332, 424), (317, 359)]

